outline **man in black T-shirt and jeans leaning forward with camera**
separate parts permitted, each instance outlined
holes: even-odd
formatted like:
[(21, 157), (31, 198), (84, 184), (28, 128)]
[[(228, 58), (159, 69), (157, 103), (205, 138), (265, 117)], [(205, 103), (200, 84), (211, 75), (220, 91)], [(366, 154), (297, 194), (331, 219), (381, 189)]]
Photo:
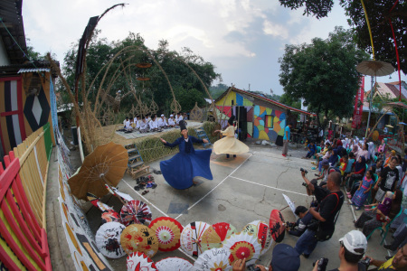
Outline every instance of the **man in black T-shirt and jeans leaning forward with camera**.
[[(304, 171), (301, 172), (301, 175), (308, 187), (313, 187)], [(303, 254), (304, 257), (309, 257), (317, 247), (318, 241), (326, 241), (334, 234), (336, 219), (345, 199), (343, 192), (340, 190), (340, 184), (341, 174), (337, 172), (329, 173), (326, 196), (319, 201), (317, 207), (309, 209), (315, 222), (309, 223), (306, 232), (298, 238), (295, 248), (299, 255)]]

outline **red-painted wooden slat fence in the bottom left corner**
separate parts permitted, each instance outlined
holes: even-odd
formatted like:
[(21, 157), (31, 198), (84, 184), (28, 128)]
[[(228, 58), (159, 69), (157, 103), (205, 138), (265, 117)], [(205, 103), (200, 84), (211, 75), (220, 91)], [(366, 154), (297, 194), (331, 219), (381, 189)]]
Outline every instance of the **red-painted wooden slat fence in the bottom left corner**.
[[(43, 140), (43, 135), (40, 138), (36, 142)], [(31, 163), (32, 158), (27, 158), (30, 155), (24, 157), (27, 164)], [(0, 266), (7, 270), (52, 270), (47, 234), (26, 197), (20, 178), (22, 167), (14, 152), (5, 156), (5, 167), (0, 163)]]

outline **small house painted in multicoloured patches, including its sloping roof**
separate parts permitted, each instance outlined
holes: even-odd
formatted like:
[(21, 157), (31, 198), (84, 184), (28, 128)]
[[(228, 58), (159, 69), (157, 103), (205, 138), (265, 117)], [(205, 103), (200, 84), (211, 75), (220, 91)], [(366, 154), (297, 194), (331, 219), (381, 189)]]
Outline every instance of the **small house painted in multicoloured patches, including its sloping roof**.
[(247, 137), (269, 140), (282, 144), (284, 128), (289, 122), (296, 122), (297, 112), (304, 116), (311, 113), (298, 108), (289, 107), (270, 98), (253, 94), (249, 91), (231, 87), (215, 100), (218, 119), (222, 119), (222, 126), (232, 115), (239, 121), (239, 128)]

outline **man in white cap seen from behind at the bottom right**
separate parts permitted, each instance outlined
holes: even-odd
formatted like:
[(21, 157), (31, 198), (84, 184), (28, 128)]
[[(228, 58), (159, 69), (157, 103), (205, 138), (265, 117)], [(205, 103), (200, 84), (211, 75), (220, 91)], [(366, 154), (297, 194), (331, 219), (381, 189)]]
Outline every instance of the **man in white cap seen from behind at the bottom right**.
[[(367, 248), (367, 239), (359, 230), (351, 230), (345, 234), (343, 238), (339, 239), (339, 259), (340, 266), (330, 271), (358, 271), (366, 270), (367, 266), (359, 264), (359, 261), (364, 257), (364, 252)], [(313, 271), (317, 271), (317, 263)]]

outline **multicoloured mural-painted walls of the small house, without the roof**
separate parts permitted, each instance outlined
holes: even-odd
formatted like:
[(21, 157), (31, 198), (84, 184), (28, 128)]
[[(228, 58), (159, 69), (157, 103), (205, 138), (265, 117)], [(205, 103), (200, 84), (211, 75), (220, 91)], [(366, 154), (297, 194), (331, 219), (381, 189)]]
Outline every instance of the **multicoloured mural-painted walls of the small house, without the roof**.
[(222, 126), (226, 126), (229, 117), (236, 116), (236, 107), (245, 107), (247, 110), (247, 137), (276, 141), (278, 135), (284, 136), (286, 114), (282, 111), (253, 105), (251, 100), (234, 91), (230, 91), (227, 96), (218, 100), (216, 107), (219, 109), (218, 118), (224, 119)]

